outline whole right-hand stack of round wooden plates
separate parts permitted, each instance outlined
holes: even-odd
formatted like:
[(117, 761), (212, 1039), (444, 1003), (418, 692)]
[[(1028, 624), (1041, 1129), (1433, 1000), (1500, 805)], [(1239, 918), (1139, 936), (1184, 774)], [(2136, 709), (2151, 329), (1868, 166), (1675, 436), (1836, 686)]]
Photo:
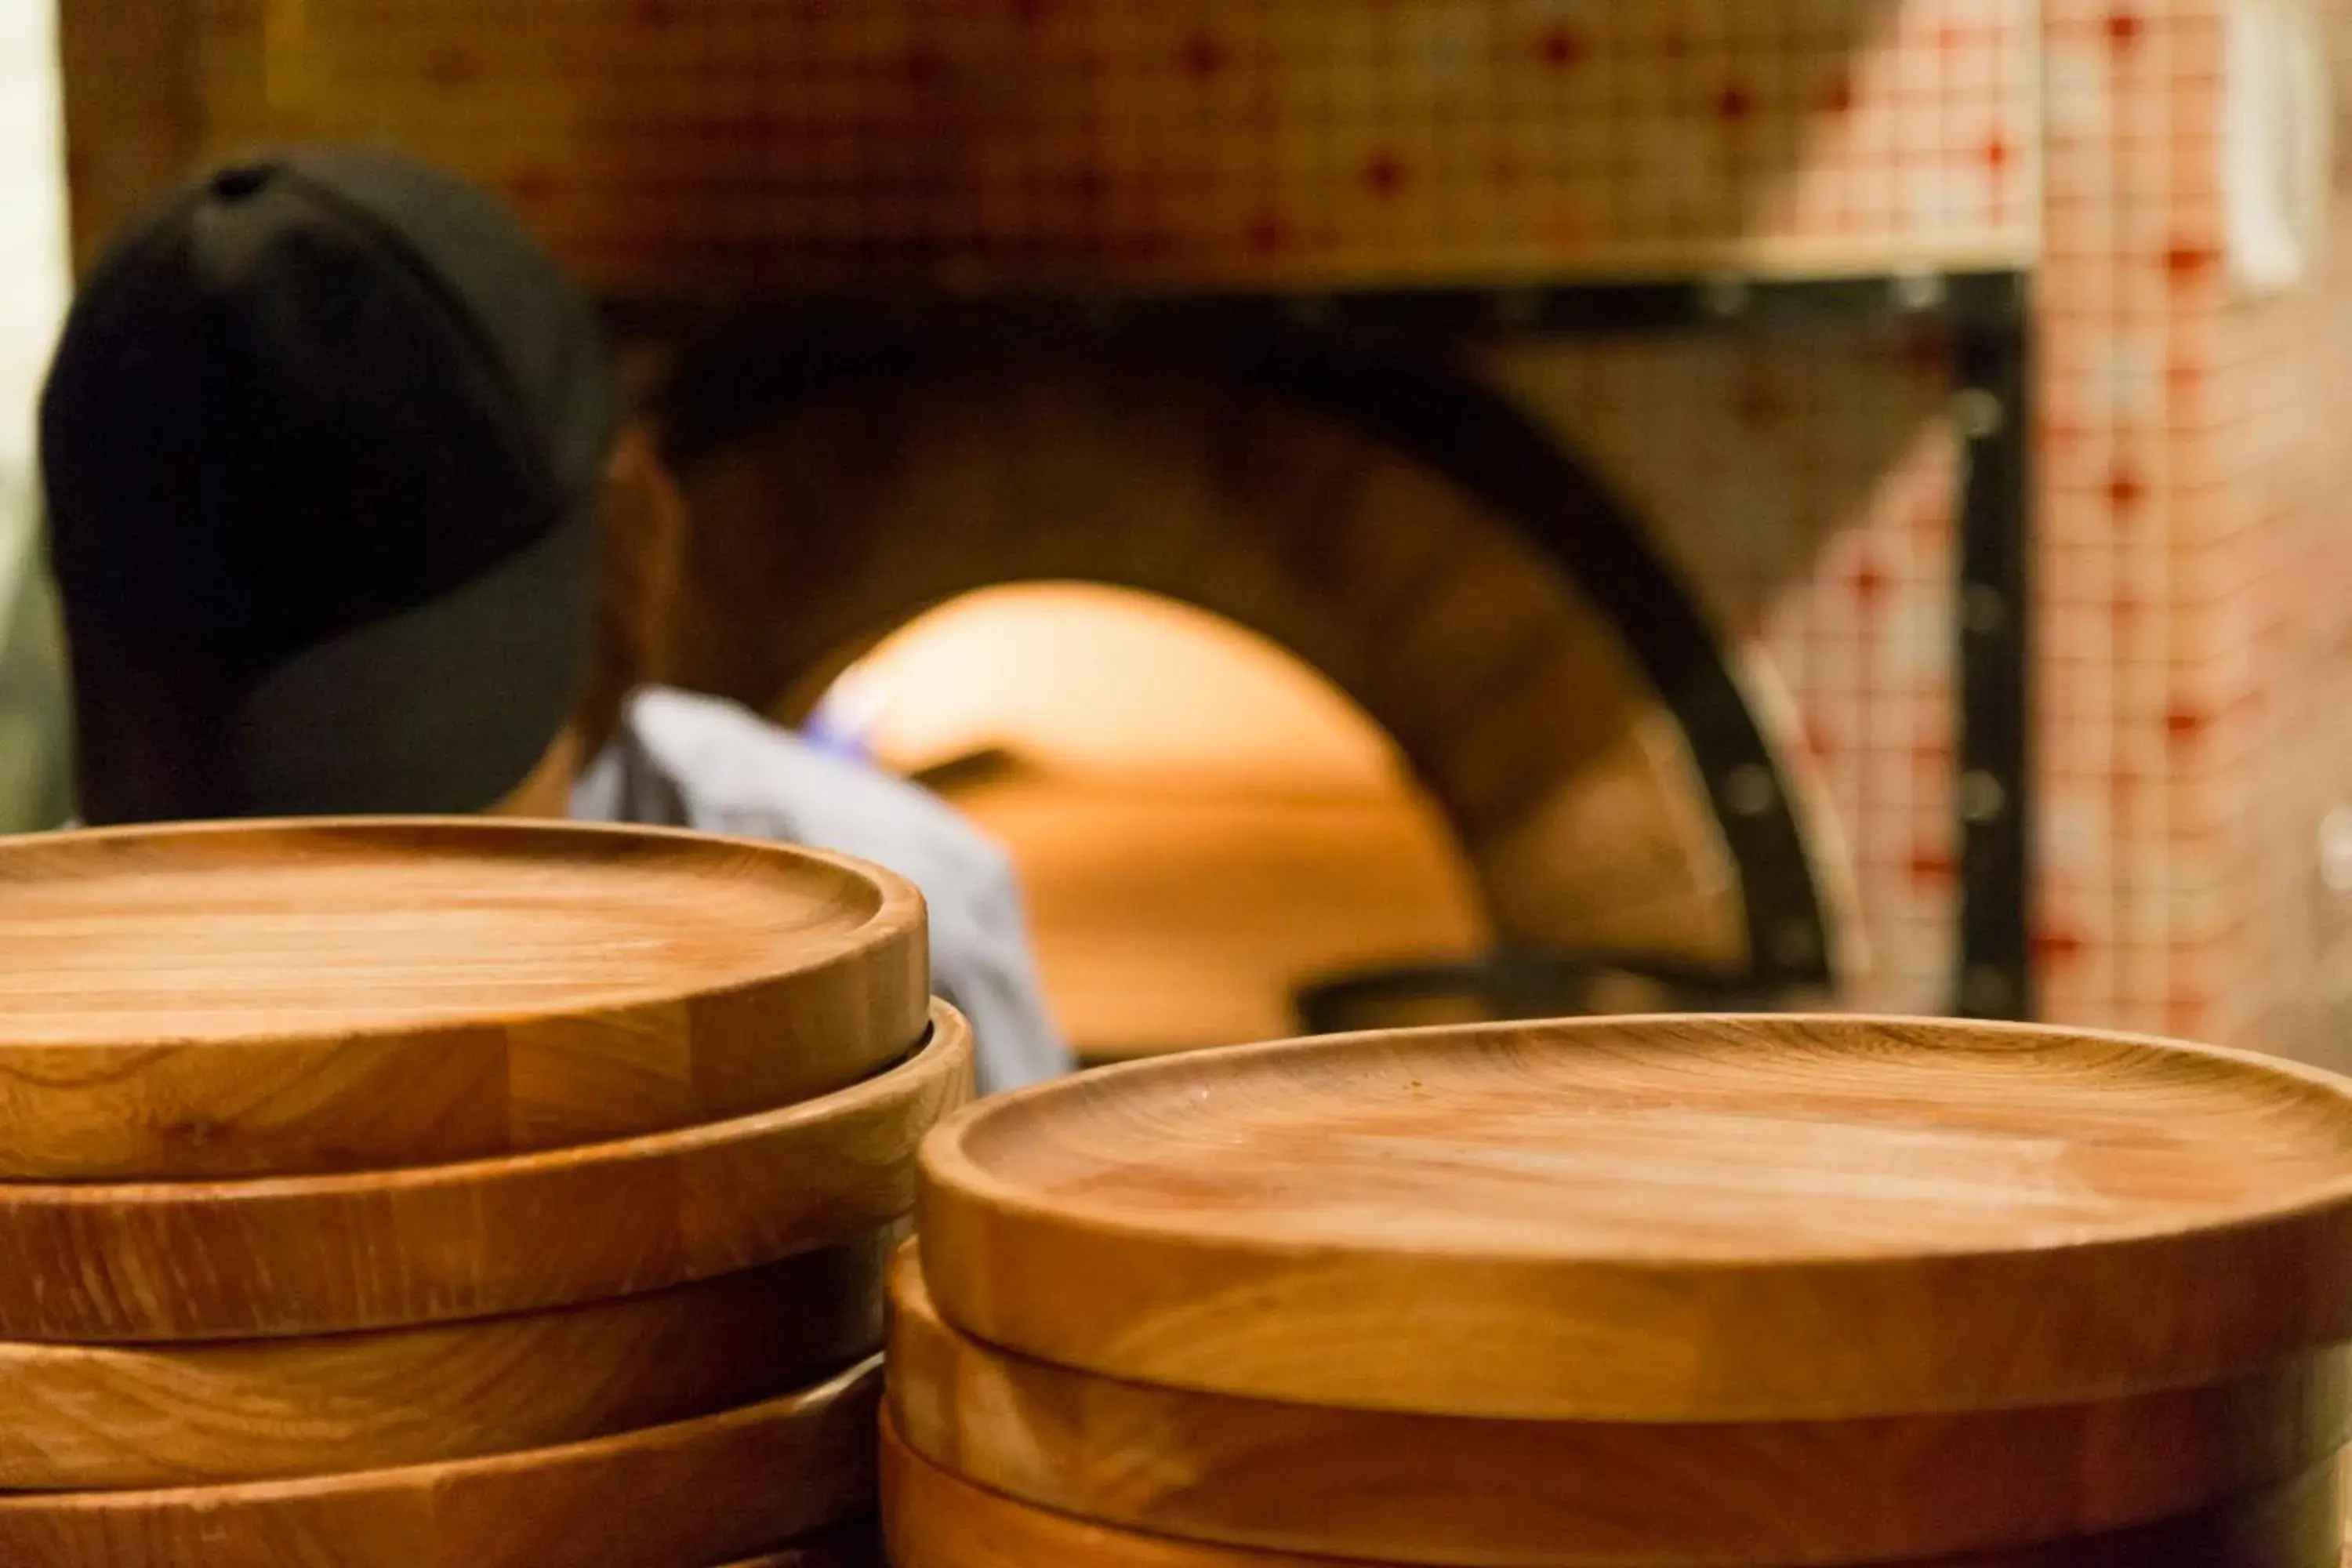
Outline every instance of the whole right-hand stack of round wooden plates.
[(1661, 1018), (1115, 1067), (924, 1147), (898, 1568), (2324, 1568), (2352, 1086)]

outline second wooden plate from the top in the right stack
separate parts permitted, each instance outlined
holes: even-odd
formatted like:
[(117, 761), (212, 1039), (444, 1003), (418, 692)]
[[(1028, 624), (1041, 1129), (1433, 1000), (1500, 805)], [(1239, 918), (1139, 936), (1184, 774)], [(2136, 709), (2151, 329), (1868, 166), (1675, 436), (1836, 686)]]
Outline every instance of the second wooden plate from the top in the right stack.
[[(2093, 1406), (1792, 1425), (1524, 1422), (1195, 1394), (990, 1349), (891, 1269), (924, 1460), (1101, 1523), (1465, 1568), (1851, 1563), (2185, 1514), (2352, 1441), (2352, 1352)], [(1867, 1507), (1856, 1500), (1867, 1497)]]

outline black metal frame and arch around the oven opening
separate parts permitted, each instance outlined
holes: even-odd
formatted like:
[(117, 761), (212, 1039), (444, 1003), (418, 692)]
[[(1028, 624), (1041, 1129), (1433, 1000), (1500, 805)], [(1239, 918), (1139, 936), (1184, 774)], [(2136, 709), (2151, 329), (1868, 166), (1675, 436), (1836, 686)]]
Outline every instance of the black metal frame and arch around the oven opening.
[[(722, 440), (750, 404), (776, 409), (858, 374), (903, 371), (946, 353), (1143, 350), (1214, 362), (1279, 386), (1418, 449), (1564, 552), (1583, 581), (1639, 590), (1665, 581), (1623, 508), (1555, 437), (1458, 369), (1465, 341), (1783, 331), (1915, 320), (1950, 336), (1952, 418), (1966, 442), (1957, 562), (1957, 846), (1959, 954), (1952, 1009), (2032, 1013), (2027, 940), (2027, 275), (1893, 273), (1682, 282), (1536, 282), (1524, 287), (1334, 294), (985, 294), (898, 301), (616, 301), (623, 336), (715, 348), (713, 367), (673, 383), (666, 428), (687, 449)], [(694, 383), (722, 386), (699, 404)], [(1602, 527), (1592, 527), (1592, 524)], [(1609, 604), (1635, 656), (1684, 719), (1748, 884), (1759, 978), (1825, 973), (1830, 933), (1813, 898), (1783, 778), (1686, 599), (1637, 592)], [(1639, 611), (1639, 614), (1637, 614)], [(1691, 649), (1705, 649), (1703, 656)]]

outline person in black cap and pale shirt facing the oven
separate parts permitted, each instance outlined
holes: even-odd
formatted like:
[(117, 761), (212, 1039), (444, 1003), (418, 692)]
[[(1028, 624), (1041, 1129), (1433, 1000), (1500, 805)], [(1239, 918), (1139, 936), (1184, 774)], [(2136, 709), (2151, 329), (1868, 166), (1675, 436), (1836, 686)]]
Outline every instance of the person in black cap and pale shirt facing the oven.
[(181, 190), (73, 303), (40, 447), (87, 820), (569, 813), (863, 856), (922, 886), (981, 1088), (1068, 1070), (995, 844), (633, 689), (682, 503), (485, 193), (355, 148)]

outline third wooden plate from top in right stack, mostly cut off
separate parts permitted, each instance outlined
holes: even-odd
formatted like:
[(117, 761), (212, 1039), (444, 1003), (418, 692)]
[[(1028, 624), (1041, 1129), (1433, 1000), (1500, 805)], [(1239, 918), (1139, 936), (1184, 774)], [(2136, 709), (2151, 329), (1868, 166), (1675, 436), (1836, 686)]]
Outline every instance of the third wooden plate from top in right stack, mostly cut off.
[[(2284, 1486), (2161, 1523), (2039, 1547), (1905, 1559), (1900, 1568), (2328, 1568), (2343, 1535), (2340, 1495), (2343, 1462), (2328, 1460)], [(1047, 1563), (1395, 1568), (1397, 1563), (1397, 1559), (1305, 1556), (1145, 1535), (1014, 1502), (915, 1455), (887, 1415), (882, 1530), (896, 1568), (1044, 1568)]]

